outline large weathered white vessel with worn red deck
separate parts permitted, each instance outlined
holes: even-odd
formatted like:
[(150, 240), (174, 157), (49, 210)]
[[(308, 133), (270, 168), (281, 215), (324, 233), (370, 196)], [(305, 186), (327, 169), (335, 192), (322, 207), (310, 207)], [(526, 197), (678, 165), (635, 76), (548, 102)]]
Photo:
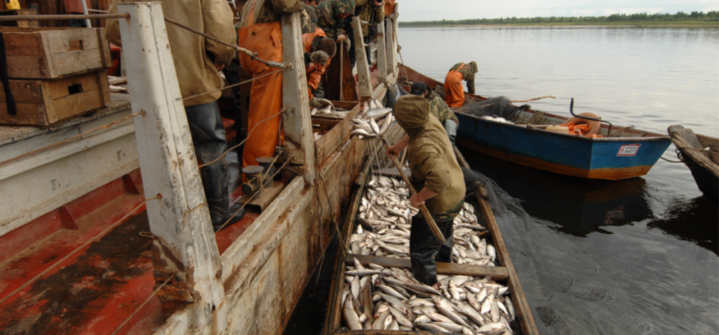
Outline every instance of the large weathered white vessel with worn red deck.
[[(295, 108), (285, 115), (283, 160), (295, 172), (283, 172), (283, 189), (261, 211), (213, 235), (160, 4), (118, 10), (132, 18), (121, 20), (132, 35), (123, 39), (132, 103), (52, 128), (0, 128), (0, 329), (280, 334), (367, 159), (368, 142), (349, 137), (360, 107), (311, 118), (303, 67), (289, 67), (283, 103)], [(302, 63), (300, 20), (283, 18), (288, 63)], [(381, 100), (395, 82), (388, 36), (377, 47), (388, 62), (359, 73), (363, 100)], [(396, 141), (399, 131), (385, 136)]]

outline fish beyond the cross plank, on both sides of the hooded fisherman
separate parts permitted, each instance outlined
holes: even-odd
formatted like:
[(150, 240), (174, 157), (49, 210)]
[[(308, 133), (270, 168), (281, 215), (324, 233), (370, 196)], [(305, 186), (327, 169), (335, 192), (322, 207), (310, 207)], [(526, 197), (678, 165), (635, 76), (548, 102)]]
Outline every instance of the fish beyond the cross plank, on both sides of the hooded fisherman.
[[(409, 203), (404, 181), (372, 175), (359, 206), (357, 231), (350, 237), (350, 250), (357, 255), (409, 258), (411, 217), (418, 209)], [(364, 229), (363, 229), (364, 228)], [(454, 218), (454, 262), (495, 266), (495, 247), (487, 243), (486, 228), (475, 215), (472, 204)]]

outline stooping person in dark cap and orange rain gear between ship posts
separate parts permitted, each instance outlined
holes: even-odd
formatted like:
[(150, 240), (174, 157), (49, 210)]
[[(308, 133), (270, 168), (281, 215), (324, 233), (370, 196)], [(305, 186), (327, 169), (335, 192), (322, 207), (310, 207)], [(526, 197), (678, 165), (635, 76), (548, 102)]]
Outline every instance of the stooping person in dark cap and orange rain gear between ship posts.
[[(307, 90), (311, 107), (321, 107), (328, 102), (324, 100), (324, 90), (321, 90), (320, 80), (329, 62), (336, 52), (336, 44), (321, 28), (314, 32), (302, 34), (302, 43), (305, 48), (305, 71), (307, 76)], [(318, 90), (319, 89), (319, 90)]]

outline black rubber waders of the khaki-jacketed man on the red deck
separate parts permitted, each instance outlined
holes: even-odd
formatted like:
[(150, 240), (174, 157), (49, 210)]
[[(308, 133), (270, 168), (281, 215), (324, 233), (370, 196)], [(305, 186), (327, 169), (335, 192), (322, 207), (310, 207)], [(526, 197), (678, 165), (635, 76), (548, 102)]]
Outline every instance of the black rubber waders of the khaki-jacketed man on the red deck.
[[(203, 163), (218, 159), (226, 150), (224, 125), (217, 103), (186, 106), (188, 125), (195, 147), (195, 154)], [(229, 171), (224, 158), (200, 169), (202, 186), (215, 231), (242, 220), (244, 209), (237, 214), (229, 209)], [(234, 214), (234, 216), (232, 215)], [(229, 220), (232, 217), (232, 220)], [(229, 220), (229, 222), (227, 222)], [(225, 222), (227, 224), (225, 225)]]

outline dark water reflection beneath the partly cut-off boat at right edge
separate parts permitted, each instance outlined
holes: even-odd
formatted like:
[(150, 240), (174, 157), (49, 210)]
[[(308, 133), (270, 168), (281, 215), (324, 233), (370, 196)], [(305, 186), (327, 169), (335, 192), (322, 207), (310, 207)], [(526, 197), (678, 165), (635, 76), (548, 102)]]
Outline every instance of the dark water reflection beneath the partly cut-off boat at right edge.
[(703, 195), (674, 203), (647, 227), (694, 242), (719, 255), (719, 211), (717, 204)]

